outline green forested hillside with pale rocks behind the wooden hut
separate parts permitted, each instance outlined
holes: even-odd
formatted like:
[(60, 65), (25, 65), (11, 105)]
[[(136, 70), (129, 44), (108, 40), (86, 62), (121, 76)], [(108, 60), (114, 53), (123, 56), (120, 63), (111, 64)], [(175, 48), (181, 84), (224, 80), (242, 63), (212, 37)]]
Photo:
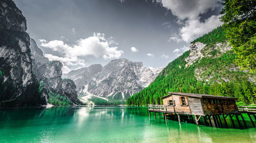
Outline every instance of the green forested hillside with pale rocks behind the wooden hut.
[[(186, 60), (191, 55), (190, 51), (184, 52), (170, 62), (147, 88), (127, 99), (126, 104), (163, 104), (160, 97), (168, 92), (180, 92), (180, 85), (184, 93), (237, 97), (240, 105), (254, 104), (255, 74), (242, 72), (234, 64), (236, 55), (232, 50), (225, 51), (228, 44), (222, 27), (196, 39), (191, 45), (197, 42), (205, 45), (201, 58), (187, 65)], [(218, 46), (221, 50), (215, 48)]]

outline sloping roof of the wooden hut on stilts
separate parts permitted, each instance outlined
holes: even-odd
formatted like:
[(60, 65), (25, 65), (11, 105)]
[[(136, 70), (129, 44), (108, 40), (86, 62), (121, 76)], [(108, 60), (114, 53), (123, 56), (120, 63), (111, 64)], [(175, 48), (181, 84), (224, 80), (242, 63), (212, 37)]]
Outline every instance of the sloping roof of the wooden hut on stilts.
[(169, 93), (168, 95), (163, 96), (161, 98), (164, 99), (172, 95), (181, 95), (181, 96), (198, 97), (198, 98), (238, 99), (234, 97), (216, 96), (216, 95), (207, 95), (207, 94), (179, 93), (179, 92), (168, 92), (168, 93)]

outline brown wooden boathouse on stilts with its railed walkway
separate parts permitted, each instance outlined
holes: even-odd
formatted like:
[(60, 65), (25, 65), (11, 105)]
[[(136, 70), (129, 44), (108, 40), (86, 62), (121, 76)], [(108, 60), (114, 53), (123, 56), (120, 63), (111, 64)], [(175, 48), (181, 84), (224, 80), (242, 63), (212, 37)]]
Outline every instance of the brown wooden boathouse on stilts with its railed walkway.
[[(156, 118), (156, 112), (163, 113), (163, 117), (166, 121), (166, 115), (177, 115), (178, 121), (181, 122), (180, 116), (187, 116), (189, 120), (195, 118), (195, 123), (199, 125), (200, 118), (203, 117), (205, 124), (215, 127), (223, 127), (225, 124), (227, 127), (226, 118), (229, 116), (233, 127), (234, 121), (233, 117), (235, 116), (240, 127), (242, 127), (238, 116), (241, 116), (244, 126), (246, 127), (245, 120), (241, 113), (247, 113), (250, 121), (255, 127), (251, 115), (255, 118), (255, 112), (253, 111), (240, 111), (237, 107), (236, 100), (234, 97), (225, 97), (225, 96), (215, 96), (215, 95), (205, 95), (205, 94), (192, 94), (192, 93), (177, 93), (177, 92), (168, 92), (169, 94), (161, 97), (163, 100), (163, 105), (148, 105), (148, 113), (154, 112)], [(220, 116), (223, 117), (224, 123)]]

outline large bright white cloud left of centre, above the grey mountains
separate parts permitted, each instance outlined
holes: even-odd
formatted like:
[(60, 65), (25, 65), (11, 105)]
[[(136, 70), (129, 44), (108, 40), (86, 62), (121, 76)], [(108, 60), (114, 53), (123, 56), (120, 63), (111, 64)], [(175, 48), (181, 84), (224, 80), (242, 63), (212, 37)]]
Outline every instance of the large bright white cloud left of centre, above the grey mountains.
[(44, 39), (39, 39), (39, 41), (41, 42), (40, 46), (50, 48), (61, 55), (45, 54), (49, 60), (58, 60), (69, 68), (70, 66), (84, 67), (86, 64), (81, 59), (82, 56), (93, 55), (106, 60), (120, 58), (122, 55), (123, 51), (118, 50), (116, 46), (111, 46), (104, 36), (104, 34), (95, 33), (92, 37), (77, 40), (74, 45), (66, 44), (60, 40), (47, 42)]

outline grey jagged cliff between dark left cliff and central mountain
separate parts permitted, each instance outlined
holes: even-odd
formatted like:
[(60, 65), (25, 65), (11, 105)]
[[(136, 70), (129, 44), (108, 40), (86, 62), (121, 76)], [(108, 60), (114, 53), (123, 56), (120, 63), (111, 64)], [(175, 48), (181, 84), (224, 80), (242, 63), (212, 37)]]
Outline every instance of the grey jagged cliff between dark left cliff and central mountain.
[[(46, 97), (46, 101), (49, 102), (49, 98), (54, 98), (52, 95), (59, 94), (66, 97), (72, 104), (80, 104), (77, 98), (76, 85), (72, 80), (66, 80), (61, 78), (62, 76), (62, 63), (59, 61), (49, 61), (45, 58), (41, 49), (36, 45), (33, 39), (30, 39), (30, 49), (32, 53), (32, 66), (33, 73), (35, 73), (37, 80), (42, 83)], [(51, 94), (54, 93), (54, 94)], [(53, 103), (54, 104), (54, 103)]]

